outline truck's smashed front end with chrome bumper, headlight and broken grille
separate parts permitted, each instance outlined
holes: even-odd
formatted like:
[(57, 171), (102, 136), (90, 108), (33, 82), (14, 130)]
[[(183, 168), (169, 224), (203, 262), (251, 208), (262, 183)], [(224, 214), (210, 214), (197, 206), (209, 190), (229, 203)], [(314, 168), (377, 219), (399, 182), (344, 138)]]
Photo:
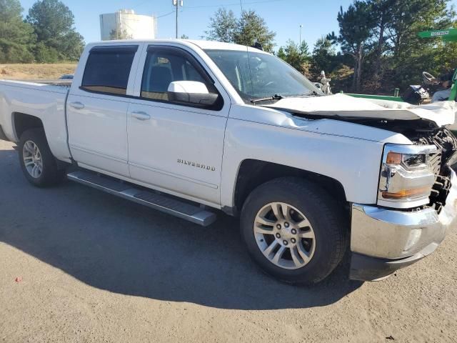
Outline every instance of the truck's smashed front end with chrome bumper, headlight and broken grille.
[(457, 225), (457, 139), (411, 129), (413, 144), (385, 144), (375, 205), (352, 204), (351, 279), (387, 277), (436, 250)]

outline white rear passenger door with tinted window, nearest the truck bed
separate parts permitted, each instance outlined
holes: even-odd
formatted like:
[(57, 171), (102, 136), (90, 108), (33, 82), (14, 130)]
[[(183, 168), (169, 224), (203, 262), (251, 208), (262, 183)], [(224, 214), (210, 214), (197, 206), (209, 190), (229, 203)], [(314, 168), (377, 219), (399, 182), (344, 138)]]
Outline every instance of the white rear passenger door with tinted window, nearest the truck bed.
[(139, 45), (94, 46), (67, 100), (69, 146), (81, 166), (129, 177), (127, 109)]

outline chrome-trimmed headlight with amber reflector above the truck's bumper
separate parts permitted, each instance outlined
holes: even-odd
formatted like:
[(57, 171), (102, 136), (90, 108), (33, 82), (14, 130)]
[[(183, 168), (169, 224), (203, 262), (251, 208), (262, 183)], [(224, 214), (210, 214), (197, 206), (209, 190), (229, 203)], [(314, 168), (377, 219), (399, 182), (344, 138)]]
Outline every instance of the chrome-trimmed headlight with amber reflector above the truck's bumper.
[[(384, 146), (378, 205), (411, 208), (428, 204), (435, 183), (438, 149), (434, 145)], [(439, 156), (438, 156), (439, 157)]]

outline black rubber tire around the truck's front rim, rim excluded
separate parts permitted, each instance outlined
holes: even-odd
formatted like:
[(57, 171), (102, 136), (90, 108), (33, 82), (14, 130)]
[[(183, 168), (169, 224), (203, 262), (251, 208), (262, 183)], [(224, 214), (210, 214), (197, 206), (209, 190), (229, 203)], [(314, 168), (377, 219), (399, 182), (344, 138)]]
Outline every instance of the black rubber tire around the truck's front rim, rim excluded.
[[(316, 245), (311, 260), (303, 267), (278, 267), (257, 245), (253, 232), (256, 215), (272, 202), (295, 207), (311, 223)], [(241, 211), (241, 236), (254, 262), (267, 274), (282, 282), (316, 284), (328, 277), (343, 259), (348, 245), (348, 219), (341, 206), (321, 187), (306, 179), (285, 177), (266, 182), (249, 194)]]

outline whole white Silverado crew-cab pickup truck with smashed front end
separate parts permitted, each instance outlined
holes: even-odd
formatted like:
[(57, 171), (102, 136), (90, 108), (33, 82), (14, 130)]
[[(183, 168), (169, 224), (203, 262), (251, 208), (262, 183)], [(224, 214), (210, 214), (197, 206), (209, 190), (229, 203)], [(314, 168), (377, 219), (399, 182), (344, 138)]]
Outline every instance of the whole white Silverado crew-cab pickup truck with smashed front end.
[(323, 96), (271, 54), (211, 41), (89, 44), (70, 88), (0, 81), (0, 135), (31, 184), (67, 177), (204, 226), (239, 216), (253, 260), (305, 284), (348, 249), (350, 277), (374, 280), (438, 247), (454, 111)]

